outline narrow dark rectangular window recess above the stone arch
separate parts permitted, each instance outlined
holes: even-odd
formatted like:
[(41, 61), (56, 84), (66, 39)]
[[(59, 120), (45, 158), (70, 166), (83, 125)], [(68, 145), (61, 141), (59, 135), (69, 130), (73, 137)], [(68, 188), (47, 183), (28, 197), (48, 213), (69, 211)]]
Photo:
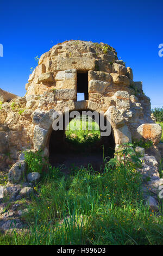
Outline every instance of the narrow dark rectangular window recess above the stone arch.
[(88, 73), (77, 73), (77, 100), (78, 93), (84, 93), (84, 100), (89, 99), (88, 94)]

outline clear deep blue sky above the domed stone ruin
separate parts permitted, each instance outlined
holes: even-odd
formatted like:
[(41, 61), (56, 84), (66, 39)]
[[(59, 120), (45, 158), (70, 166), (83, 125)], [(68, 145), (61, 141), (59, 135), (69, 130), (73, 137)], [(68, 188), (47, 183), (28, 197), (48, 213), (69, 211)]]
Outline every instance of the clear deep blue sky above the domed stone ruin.
[(0, 88), (26, 93), (30, 68), (53, 45), (65, 40), (105, 42), (142, 81), (152, 107), (163, 106), (162, 0), (42, 1), (0, 0)]

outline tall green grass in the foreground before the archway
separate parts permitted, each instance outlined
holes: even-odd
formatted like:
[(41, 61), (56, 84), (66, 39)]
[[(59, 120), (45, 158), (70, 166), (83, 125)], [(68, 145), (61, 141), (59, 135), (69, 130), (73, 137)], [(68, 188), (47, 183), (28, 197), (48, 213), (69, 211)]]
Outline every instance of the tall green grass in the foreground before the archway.
[(141, 182), (130, 162), (102, 174), (74, 168), (68, 178), (49, 167), (23, 216), (28, 234), (2, 235), (0, 245), (161, 245), (162, 211), (144, 205)]

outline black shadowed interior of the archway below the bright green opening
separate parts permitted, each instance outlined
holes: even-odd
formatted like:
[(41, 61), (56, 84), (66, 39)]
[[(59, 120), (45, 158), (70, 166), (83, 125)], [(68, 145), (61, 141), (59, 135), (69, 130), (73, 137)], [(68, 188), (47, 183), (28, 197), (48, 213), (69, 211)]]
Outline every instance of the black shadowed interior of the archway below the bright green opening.
[(49, 162), (52, 166), (62, 166), (62, 172), (70, 174), (73, 167), (87, 167), (91, 164), (93, 170), (103, 169), (103, 147), (105, 157), (114, 157), (115, 141), (112, 136), (101, 137), (96, 143), (76, 145), (67, 142), (65, 131), (52, 131), (49, 140)]

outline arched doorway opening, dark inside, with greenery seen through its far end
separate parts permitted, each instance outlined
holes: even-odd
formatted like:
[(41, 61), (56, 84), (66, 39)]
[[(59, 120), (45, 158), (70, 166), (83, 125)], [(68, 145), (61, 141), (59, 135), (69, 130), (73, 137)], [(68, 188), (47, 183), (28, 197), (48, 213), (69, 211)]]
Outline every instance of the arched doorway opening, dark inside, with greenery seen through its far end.
[[(115, 140), (112, 129), (109, 136), (101, 136), (100, 122), (97, 124), (96, 118), (93, 117), (83, 118), (83, 111), (79, 113), (80, 117), (70, 118), (69, 123), (65, 123), (63, 119), (63, 127), (68, 125), (70, 130), (52, 130), (49, 138), (49, 162), (55, 167), (62, 166), (66, 172), (72, 167), (87, 167), (88, 164), (91, 164), (94, 170), (99, 171), (103, 166), (103, 153), (104, 157), (114, 157)], [(86, 130), (82, 132), (71, 130), (71, 123), (76, 122), (78, 126), (81, 122), (83, 124), (82, 118), (86, 120)], [(92, 127), (89, 127), (90, 119), (92, 119)], [(106, 118), (104, 121), (106, 123)], [(89, 130), (90, 128), (92, 130)]]

